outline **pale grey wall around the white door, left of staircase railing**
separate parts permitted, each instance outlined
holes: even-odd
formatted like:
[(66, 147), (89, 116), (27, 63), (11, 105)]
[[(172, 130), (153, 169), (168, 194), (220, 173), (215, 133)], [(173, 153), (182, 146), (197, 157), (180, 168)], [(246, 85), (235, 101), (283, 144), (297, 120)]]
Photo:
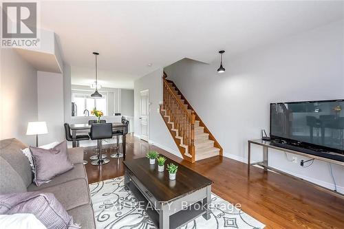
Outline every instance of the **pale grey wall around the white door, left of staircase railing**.
[(169, 129), (159, 113), (162, 102), (162, 69), (155, 70), (134, 82), (134, 133), (140, 136), (140, 91), (149, 89), (149, 142), (180, 155)]

